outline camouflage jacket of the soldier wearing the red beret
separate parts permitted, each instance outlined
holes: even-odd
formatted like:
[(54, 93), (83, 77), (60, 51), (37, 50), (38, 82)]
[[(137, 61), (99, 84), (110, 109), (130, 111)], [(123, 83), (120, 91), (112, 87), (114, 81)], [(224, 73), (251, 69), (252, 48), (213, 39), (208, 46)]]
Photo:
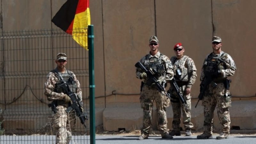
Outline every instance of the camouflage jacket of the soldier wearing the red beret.
[[(188, 56), (184, 55), (180, 59), (177, 59), (176, 56), (171, 57), (171, 62), (174, 70), (174, 77), (176, 81), (185, 81), (188, 82), (188, 88), (191, 88), (192, 85), (196, 82), (196, 65), (194, 61)], [(177, 74), (177, 69), (180, 70), (181, 76)]]

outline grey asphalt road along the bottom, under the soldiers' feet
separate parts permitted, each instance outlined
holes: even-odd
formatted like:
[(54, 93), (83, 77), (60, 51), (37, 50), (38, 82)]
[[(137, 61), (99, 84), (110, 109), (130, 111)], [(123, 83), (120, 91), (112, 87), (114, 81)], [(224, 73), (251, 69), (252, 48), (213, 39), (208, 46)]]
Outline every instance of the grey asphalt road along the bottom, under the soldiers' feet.
[[(160, 135), (149, 136), (149, 139), (137, 140), (137, 135), (96, 135), (96, 144), (255, 144), (255, 135), (230, 135), (228, 139), (197, 140), (196, 136), (174, 136), (173, 139), (161, 139)], [(86, 144), (90, 143), (90, 136), (73, 136), (70, 144)], [(1, 144), (54, 144), (55, 136), (53, 135), (23, 135), (23, 136), (0, 136)]]

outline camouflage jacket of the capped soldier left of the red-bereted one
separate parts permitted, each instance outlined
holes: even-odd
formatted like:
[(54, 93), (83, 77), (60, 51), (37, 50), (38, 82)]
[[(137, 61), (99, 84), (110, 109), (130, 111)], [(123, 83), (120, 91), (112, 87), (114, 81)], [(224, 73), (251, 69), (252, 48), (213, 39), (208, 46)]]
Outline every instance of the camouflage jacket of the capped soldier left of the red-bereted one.
[[(164, 71), (162, 72), (161, 76), (156, 77), (156, 78), (157, 78), (158, 80), (159, 80), (159, 79), (162, 79), (165, 83), (170, 82), (170, 81), (172, 80), (172, 78), (173, 78), (173, 75), (174, 75), (174, 73), (173, 73), (173, 67), (172, 67), (172, 63), (171, 63), (170, 59), (169, 59), (167, 56), (161, 54), (161, 53), (158, 51), (154, 56), (151, 55), (150, 53), (147, 54), (147, 55), (145, 55), (144, 57), (142, 57), (142, 58), (140, 59), (140, 62), (145, 66), (145, 65), (147, 65), (147, 64), (146, 64), (147, 61), (148, 61), (149, 59), (151, 59), (151, 58), (157, 58), (158, 60), (159, 60), (159, 59), (162, 60), (162, 64), (163, 64), (163, 66), (164, 66)], [(142, 71), (140, 68), (136, 68), (136, 77), (137, 77), (137, 78), (140, 78), (140, 74), (141, 74), (142, 72), (143, 72), (143, 71)], [(144, 82), (145, 82), (145, 81), (147, 81), (147, 79), (144, 80)]]

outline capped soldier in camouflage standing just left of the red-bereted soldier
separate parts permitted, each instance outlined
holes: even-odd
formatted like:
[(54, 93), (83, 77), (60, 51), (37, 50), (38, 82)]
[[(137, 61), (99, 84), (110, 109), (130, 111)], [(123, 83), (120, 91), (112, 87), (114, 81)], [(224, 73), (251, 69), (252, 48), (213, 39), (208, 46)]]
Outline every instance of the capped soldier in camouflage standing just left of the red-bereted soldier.
[[(156, 36), (151, 36), (149, 39), (149, 54), (140, 59), (140, 62), (149, 70), (155, 69), (157, 72), (154, 75), (157, 82), (164, 85), (173, 78), (172, 64), (169, 58), (158, 51), (158, 39)], [(172, 139), (167, 129), (166, 107), (170, 104), (170, 99), (162, 95), (156, 89), (156, 84), (149, 81), (147, 73), (140, 68), (136, 68), (136, 77), (142, 79), (140, 103), (143, 109), (143, 127), (138, 140), (148, 139), (151, 126), (151, 117), (153, 102), (156, 101), (156, 111), (158, 116), (158, 129), (163, 139)]]

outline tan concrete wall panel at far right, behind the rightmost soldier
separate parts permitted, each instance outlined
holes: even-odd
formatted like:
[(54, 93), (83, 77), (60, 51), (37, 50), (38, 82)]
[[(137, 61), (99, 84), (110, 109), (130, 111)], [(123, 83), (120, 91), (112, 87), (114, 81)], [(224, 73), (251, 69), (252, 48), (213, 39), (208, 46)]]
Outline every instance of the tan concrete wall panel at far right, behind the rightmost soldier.
[[(236, 73), (231, 77), (233, 96), (255, 96), (256, 73), (256, 9), (253, 0), (215, 0), (212, 3), (214, 34), (222, 38), (222, 50), (236, 63)], [(245, 50), (246, 49), (246, 50)], [(238, 83), (239, 82), (239, 83)]]

